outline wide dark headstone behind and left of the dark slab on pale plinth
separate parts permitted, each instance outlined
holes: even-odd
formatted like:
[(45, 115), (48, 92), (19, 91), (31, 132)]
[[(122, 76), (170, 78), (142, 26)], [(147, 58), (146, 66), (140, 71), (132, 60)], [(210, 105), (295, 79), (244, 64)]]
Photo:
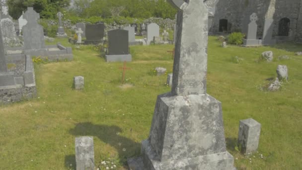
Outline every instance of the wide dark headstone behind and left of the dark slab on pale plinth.
[(103, 23), (86, 24), (85, 35), (88, 41), (101, 41), (104, 38), (105, 25)]

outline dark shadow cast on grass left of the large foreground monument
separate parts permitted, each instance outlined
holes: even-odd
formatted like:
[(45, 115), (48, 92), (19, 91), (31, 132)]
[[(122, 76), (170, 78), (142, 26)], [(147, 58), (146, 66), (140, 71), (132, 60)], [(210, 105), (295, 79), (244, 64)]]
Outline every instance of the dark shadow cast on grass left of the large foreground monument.
[(141, 143), (119, 135), (121, 132), (122, 129), (118, 126), (96, 125), (91, 122), (77, 123), (75, 128), (70, 130), (74, 136), (98, 137), (104, 143), (114, 147), (118, 152), (120, 163), (126, 165), (128, 158), (140, 155)]

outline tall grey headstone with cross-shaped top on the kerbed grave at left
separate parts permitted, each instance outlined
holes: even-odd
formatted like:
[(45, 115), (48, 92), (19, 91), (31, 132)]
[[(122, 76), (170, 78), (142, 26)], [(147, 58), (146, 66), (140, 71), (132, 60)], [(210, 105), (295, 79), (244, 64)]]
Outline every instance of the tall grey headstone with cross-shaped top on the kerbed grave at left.
[(43, 27), (38, 24), (40, 14), (34, 11), (33, 7), (27, 7), (27, 11), (23, 14), (27, 20), (27, 24), (23, 26), (24, 49), (44, 49), (44, 31)]

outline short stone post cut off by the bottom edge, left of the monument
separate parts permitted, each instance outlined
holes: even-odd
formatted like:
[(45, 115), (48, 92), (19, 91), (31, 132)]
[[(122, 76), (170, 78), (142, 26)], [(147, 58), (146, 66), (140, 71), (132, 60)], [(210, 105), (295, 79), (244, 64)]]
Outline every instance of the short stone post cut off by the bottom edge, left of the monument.
[(94, 170), (93, 137), (75, 138), (76, 170)]

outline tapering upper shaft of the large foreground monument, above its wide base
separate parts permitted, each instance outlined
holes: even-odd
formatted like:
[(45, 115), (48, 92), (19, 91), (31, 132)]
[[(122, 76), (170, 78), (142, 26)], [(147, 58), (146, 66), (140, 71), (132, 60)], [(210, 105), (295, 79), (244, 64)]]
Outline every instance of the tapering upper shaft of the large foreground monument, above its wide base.
[[(208, 10), (206, 5), (200, 5), (199, 3), (202, 2), (198, 1), (202, 0), (190, 0), (190, 3), (201, 6), (200, 12), (181, 11), (177, 14), (177, 18), (184, 19), (177, 19), (176, 35), (181, 38), (177, 38), (175, 42), (171, 90), (173, 95), (207, 93), (208, 24), (206, 22), (208, 22)], [(183, 0), (169, 0), (169, 2), (179, 10), (188, 5)], [(185, 10), (191, 9), (186, 8)], [(205, 14), (199, 16), (201, 13)], [(194, 18), (199, 18), (200, 24), (197, 24)]]

